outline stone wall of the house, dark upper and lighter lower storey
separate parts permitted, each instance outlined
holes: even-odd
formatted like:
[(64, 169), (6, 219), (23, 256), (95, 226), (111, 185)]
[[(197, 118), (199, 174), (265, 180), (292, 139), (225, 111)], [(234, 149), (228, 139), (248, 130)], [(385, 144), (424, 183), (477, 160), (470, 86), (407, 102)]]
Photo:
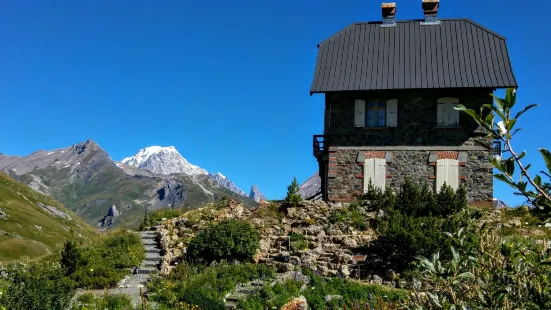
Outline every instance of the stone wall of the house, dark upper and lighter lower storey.
[[(395, 192), (406, 177), (434, 189), (435, 156), (447, 151), (460, 157), (460, 184), (467, 187), (469, 200), (491, 201), (493, 176), (489, 157), (492, 156), (492, 140), (462, 112), (459, 127), (436, 126), (438, 98), (458, 98), (461, 104), (478, 111), (482, 104), (492, 104), (490, 93), (489, 89), (462, 89), (327, 94), (328, 200), (353, 201), (361, 193), (363, 159), (358, 161), (358, 156), (366, 152), (384, 153), (386, 184)], [(397, 127), (354, 127), (354, 99), (389, 98), (399, 100)]]

